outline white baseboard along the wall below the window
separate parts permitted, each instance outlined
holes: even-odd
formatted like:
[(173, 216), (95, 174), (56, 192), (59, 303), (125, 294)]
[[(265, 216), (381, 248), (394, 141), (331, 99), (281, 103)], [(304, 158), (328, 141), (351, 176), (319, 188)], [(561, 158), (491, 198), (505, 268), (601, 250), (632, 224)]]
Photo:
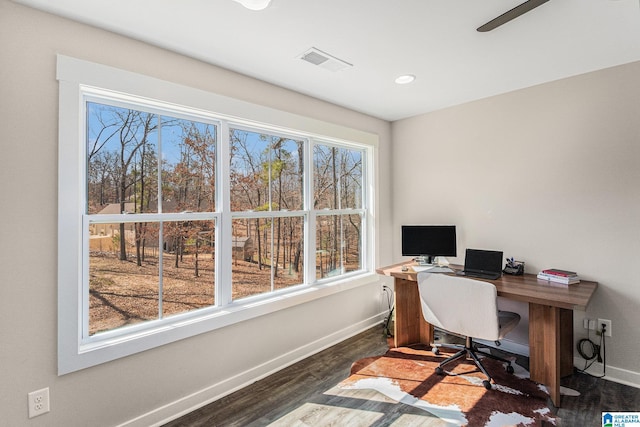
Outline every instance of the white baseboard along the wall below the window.
[(319, 340), (308, 343), (289, 353), (282, 354), (275, 359), (269, 360), (262, 365), (256, 366), (236, 376), (227, 378), (217, 384), (184, 396), (167, 405), (156, 408), (145, 414), (140, 415), (132, 420), (120, 424), (118, 427), (157, 427), (168, 423), (176, 418), (186, 415), (198, 408), (201, 408), (211, 402), (240, 390), (262, 378), (265, 378), (287, 366), (293, 365), (300, 360), (312, 356), (322, 350), (325, 350), (339, 342), (351, 338), (367, 329), (376, 325), (381, 325), (385, 317), (385, 313), (373, 316), (362, 322), (351, 325), (348, 328), (334, 332)]

